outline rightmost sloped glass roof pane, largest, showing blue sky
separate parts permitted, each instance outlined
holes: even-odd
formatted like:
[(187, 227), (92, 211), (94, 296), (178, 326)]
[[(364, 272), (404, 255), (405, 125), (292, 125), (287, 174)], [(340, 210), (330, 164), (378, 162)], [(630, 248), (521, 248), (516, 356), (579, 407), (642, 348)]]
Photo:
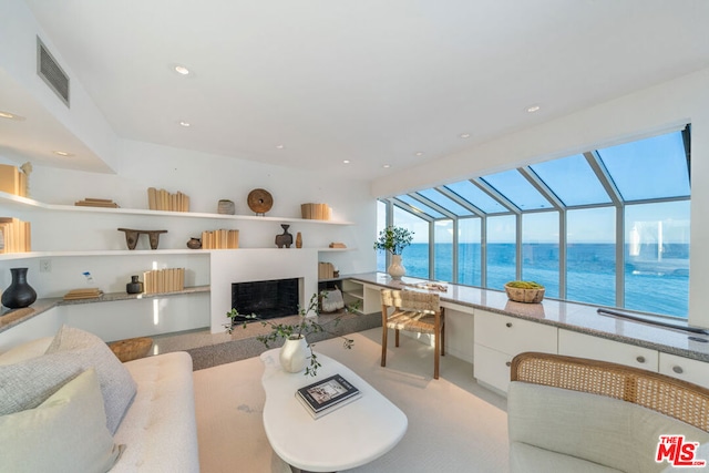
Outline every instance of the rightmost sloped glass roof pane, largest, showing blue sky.
[(689, 196), (681, 132), (598, 150), (624, 200)]

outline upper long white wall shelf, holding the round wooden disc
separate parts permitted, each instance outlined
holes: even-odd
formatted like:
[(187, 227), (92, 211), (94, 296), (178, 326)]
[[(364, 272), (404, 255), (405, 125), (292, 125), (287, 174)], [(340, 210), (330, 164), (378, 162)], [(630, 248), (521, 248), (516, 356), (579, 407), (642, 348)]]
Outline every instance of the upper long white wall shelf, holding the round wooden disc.
[(210, 214), (201, 212), (166, 212), (166, 210), (148, 210), (145, 208), (113, 208), (113, 207), (85, 207), (78, 205), (56, 205), (44, 204), (39, 200), (34, 200), (27, 197), (20, 197), (8, 193), (0, 192), (0, 203), (4, 205), (17, 205), (23, 208), (40, 208), (52, 212), (78, 212), (78, 213), (96, 213), (96, 214), (113, 214), (113, 215), (146, 215), (146, 216), (161, 216), (161, 217), (179, 217), (179, 218), (208, 218), (208, 219), (224, 219), (224, 220), (253, 220), (253, 222), (297, 222), (306, 224), (321, 224), (321, 225), (353, 225), (352, 222), (336, 222), (336, 220), (316, 220), (310, 218), (296, 218), (296, 217), (267, 217), (259, 215), (227, 215), (227, 214)]

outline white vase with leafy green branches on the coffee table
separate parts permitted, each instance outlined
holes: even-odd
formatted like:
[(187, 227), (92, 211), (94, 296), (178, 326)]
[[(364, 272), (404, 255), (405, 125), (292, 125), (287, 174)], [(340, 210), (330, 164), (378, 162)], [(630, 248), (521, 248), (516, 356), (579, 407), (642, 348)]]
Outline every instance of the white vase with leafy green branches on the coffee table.
[[(250, 315), (242, 315), (236, 309), (232, 309), (226, 312), (226, 316), (230, 319), (229, 323), (225, 323), (225, 328), (227, 333), (234, 332), (234, 328), (237, 326), (242, 326), (243, 328), (248, 327), (248, 322), (251, 320), (258, 320), (261, 322), (264, 327), (269, 326), (271, 331), (268, 335), (261, 335), (256, 337), (258, 341), (264, 343), (266, 348), (270, 348), (271, 342), (277, 342), (280, 339), (284, 339), (284, 346), (280, 349), (280, 364), (284, 370), (289, 372), (300, 372), (305, 368), (306, 376), (315, 377), (317, 374), (318, 368), (320, 368), (320, 362), (318, 361), (318, 357), (312, 351), (314, 343), (308, 343), (306, 337), (308, 333), (318, 333), (318, 332), (328, 332), (332, 333), (326, 329), (326, 326), (332, 323), (337, 326), (342, 316), (347, 312), (356, 310), (356, 307), (348, 306), (345, 308), (345, 312), (339, 315), (338, 317), (329, 320), (325, 323), (319, 322), (319, 298), (327, 297), (328, 291), (321, 291), (320, 294), (316, 292), (310, 297), (310, 301), (307, 308), (299, 308), (298, 316), (300, 316), (300, 320), (297, 323), (277, 323), (271, 320), (263, 320), (256, 313)], [(351, 338), (347, 338), (343, 336), (338, 336), (345, 340), (343, 347), (347, 349), (351, 349), (354, 345), (354, 340)], [(309, 366), (308, 360), (310, 360)]]

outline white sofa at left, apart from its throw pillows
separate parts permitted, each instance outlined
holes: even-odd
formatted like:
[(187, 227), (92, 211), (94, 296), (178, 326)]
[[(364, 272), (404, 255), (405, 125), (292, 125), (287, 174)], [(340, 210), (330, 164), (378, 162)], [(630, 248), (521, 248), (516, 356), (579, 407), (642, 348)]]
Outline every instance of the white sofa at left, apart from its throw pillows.
[[(52, 340), (52, 337), (34, 340), (0, 354), (0, 378), (2, 368), (44, 356)], [(115, 463), (110, 471), (198, 472), (193, 366), (189, 354), (165, 353), (127, 361), (122, 366), (135, 382), (135, 390), (112, 434), (111, 446), (116, 452), (114, 456), (120, 456), (117, 461), (111, 461)], [(61, 442), (61, 439), (58, 441)], [(65, 445), (60, 443), (56, 450), (62, 451), (62, 446)], [(34, 454), (49, 453), (39, 448), (34, 450)], [(0, 472), (2, 471), (0, 465)]]

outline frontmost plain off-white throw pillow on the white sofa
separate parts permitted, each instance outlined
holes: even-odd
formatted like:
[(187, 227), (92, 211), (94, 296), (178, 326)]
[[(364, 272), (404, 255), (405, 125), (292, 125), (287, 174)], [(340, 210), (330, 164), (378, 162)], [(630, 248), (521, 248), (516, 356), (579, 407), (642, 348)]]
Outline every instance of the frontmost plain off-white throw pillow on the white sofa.
[(34, 409), (0, 417), (0, 470), (106, 472), (123, 446), (105, 424), (94, 369), (79, 374)]

